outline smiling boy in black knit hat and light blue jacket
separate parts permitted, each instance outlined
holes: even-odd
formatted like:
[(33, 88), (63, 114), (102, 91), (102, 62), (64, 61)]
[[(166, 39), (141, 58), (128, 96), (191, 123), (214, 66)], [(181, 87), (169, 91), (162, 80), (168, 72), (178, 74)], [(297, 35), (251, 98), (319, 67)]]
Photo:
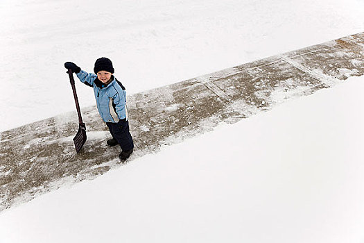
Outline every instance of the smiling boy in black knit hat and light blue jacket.
[(94, 87), (94, 94), (98, 113), (110, 130), (112, 139), (107, 144), (115, 146), (120, 144), (119, 158), (129, 158), (134, 148), (132, 135), (129, 132), (129, 122), (126, 110), (125, 87), (114, 78), (114, 67), (108, 58), (98, 58), (95, 62), (94, 72), (87, 73), (73, 62), (65, 62), (64, 67), (71, 69), (85, 85)]

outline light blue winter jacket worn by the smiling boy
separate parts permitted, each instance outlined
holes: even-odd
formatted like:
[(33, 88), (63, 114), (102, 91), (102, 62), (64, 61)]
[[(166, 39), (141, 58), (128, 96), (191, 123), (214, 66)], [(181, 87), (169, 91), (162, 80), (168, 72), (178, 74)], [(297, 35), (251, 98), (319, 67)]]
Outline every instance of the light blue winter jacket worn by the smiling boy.
[(111, 83), (105, 85), (96, 74), (81, 70), (76, 75), (82, 83), (94, 87), (98, 113), (103, 121), (117, 123), (121, 119), (128, 119), (125, 87), (114, 76)]

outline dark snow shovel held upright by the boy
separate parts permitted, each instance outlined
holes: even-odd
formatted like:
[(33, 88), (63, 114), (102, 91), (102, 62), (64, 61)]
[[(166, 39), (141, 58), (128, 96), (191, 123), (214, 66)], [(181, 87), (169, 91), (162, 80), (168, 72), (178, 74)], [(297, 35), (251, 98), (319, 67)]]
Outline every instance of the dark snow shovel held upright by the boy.
[(82, 117), (81, 117), (81, 111), (80, 111), (80, 105), (78, 104), (78, 98), (76, 93), (76, 87), (75, 87), (75, 80), (73, 79), (72, 70), (68, 69), (69, 74), (69, 81), (71, 82), (72, 91), (73, 91), (73, 97), (75, 98), (76, 103), (76, 109), (78, 114), (78, 132), (75, 137), (73, 137), (73, 142), (75, 143), (76, 152), (78, 153), (82, 147), (83, 144), (85, 144), (87, 137), (86, 137), (86, 126), (83, 123)]

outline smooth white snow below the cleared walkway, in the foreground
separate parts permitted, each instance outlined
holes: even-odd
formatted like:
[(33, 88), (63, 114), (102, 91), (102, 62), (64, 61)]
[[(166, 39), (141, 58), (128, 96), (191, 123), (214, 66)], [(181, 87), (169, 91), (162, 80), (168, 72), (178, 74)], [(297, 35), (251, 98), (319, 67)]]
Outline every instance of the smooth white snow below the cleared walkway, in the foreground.
[(363, 242), (364, 77), (6, 210), (0, 242)]

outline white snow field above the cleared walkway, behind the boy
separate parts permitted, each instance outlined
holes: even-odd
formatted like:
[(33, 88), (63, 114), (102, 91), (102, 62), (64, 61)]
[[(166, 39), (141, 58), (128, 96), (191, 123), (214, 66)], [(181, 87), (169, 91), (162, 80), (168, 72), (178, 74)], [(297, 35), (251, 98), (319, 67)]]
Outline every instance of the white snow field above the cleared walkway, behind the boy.
[(75, 110), (67, 60), (110, 58), (133, 94), (364, 29), (363, 0), (1, 0), (0, 15), (0, 131)]

